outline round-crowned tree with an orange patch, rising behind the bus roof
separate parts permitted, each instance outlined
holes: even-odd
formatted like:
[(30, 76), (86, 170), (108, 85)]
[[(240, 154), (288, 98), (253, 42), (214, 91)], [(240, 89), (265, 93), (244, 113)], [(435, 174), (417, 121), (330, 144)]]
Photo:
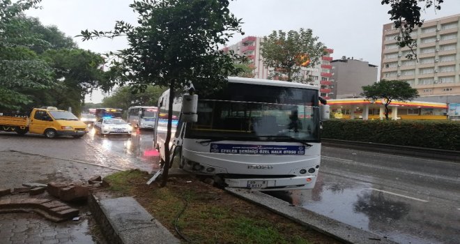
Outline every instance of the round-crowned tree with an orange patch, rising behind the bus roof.
[(279, 30), (263, 37), (261, 54), (264, 59), (263, 65), (273, 68), (270, 77), (285, 75), (288, 82), (302, 82), (297, 76), (300, 68), (315, 66), (325, 54), (325, 45), (318, 42), (318, 39), (313, 36), (311, 29), (288, 33)]

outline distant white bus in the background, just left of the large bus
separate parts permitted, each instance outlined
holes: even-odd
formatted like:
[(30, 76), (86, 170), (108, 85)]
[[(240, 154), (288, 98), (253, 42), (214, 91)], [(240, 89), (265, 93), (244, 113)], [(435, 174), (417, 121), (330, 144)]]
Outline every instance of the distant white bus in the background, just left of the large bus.
[(128, 108), (128, 123), (139, 129), (155, 128), (158, 108), (148, 106), (134, 106)]

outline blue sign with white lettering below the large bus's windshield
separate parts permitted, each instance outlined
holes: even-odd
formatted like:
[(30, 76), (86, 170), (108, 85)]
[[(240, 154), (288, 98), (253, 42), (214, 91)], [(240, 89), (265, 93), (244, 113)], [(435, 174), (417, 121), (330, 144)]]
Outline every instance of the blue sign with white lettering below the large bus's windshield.
[(305, 146), (210, 144), (210, 153), (305, 155)]

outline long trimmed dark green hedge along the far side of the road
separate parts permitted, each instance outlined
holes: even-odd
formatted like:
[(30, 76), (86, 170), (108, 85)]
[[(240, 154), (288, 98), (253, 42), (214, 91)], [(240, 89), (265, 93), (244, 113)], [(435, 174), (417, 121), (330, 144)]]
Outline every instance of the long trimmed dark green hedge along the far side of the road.
[(456, 121), (330, 120), (323, 122), (322, 137), (460, 151)]

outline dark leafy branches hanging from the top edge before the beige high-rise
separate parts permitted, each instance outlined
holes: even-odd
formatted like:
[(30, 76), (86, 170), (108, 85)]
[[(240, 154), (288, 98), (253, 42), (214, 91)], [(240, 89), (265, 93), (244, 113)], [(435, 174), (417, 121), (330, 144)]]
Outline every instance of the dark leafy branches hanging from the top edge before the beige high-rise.
[(411, 52), (406, 55), (408, 59), (417, 58), (414, 48), (417, 43), (411, 37), (411, 32), (415, 27), (420, 27), (423, 20), (420, 19), (421, 11), (434, 7), (440, 10), (440, 4), (444, 0), (382, 0), (382, 5), (390, 4), (391, 9), (388, 11), (390, 20), (394, 22), (394, 27), (399, 29), (399, 36), (396, 37), (400, 47), (409, 47)]

